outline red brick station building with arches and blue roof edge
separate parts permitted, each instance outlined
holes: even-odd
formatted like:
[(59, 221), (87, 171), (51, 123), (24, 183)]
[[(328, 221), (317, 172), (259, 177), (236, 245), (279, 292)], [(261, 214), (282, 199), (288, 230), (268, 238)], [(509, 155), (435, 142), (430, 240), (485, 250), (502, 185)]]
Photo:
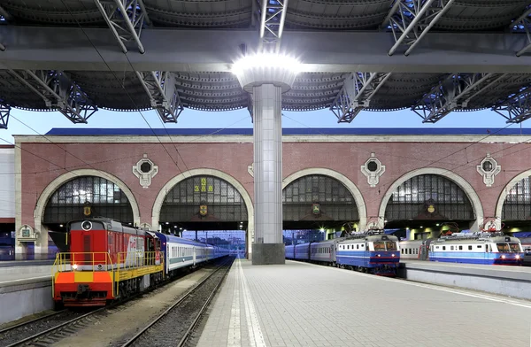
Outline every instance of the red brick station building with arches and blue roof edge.
[[(531, 224), (531, 131), (286, 128), (283, 229), (385, 228), (408, 239)], [(73, 129), (16, 135), (16, 253), (109, 217), (136, 227), (235, 230), (254, 240), (252, 129)]]

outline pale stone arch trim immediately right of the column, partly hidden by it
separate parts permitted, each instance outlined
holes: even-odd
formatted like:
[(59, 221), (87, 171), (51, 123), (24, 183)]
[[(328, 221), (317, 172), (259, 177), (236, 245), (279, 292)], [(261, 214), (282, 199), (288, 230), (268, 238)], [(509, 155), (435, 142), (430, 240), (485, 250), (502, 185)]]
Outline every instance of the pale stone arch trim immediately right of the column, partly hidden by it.
[(358, 228), (359, 230), (365, 230), (366, 222), (367, 222), (367, 209), (366, 209), (365, 200), (363, 199), (363, 196), (361, 195), (361, 191), (359, 191), (358, 187), (356, 187), (356, 184), (354, 184), (353, 181), (350, 181), (345, 175), (338, 173), (335, 170), (331, 170), (331, 169), (327, 169), (323, 167), (312, 167), (312, 168), (299, 170), (293, 174), (290, 174), (288, 177), (282, 180), (282, 190), (288, 187), (289, 183), (291, 183), (292, 181), (295, 181), (301, 177), (309, 176), (312, 174), (322, 174), (324, 176), (334, 178), (335, 180), (342, 182), (342, 184), (347, 189), (349, 189), (350, 194), (352, 194), (352, 197), (354, 197), (354, 202), (356, 203), (356, 206), (358, 207), (358, 216), (359, 216)]

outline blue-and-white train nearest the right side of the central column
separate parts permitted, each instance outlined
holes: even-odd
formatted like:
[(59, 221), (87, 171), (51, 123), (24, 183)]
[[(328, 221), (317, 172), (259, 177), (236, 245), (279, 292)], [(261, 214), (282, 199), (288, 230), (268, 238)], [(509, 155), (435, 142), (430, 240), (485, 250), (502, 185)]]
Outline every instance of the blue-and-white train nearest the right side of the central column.
[(400, 261), (398, 238), (381, 231), (286, 246), (286, 258), (395, 276)]

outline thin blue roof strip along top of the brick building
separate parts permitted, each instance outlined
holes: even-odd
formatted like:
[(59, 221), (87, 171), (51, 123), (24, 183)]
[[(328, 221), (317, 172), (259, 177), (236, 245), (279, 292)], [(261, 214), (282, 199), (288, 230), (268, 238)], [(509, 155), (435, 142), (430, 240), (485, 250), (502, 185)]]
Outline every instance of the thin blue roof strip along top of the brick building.
[[(283, 135), (531, 135), (531, 128), (467, 128), (467, 127), (322, 127), (322, 128), (284, 128)], [(149, 129), (149, 128), (73, 128), (54, 127), (46, 135), (252, 135), (252, 128), (179, 128), (179, 129)]]

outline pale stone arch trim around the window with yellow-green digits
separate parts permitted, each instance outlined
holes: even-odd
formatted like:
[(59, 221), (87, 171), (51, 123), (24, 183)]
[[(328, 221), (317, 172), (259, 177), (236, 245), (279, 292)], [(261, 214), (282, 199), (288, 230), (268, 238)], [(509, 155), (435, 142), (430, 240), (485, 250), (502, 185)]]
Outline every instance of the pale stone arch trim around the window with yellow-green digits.
[(238, 193), (240, 193), (243, 198), (243, 202), (247, 207), (247, 218), (249, 219), (247, 224), (247, 232), (249, 233), (248, 235), (250, 235), (250, 237), (248, 237), (248, 244), (250, 244), (250, 240), (252, 240), (252, 237), (254, 235), (254, 206), (252, 204), (252, 200), (250, 199), (249, 192), (247, 191), (247, 189), (243, 188), (242, 183), (236, 180), (233, 176), (215, 169), (192, 169), (178, 174), (170, 181), (167, 181), (164, 187), (162, 187), (162, 189), (160, 189), (160, 191), (158, 192), (157, 198), (155, 199), (155, 203), (153, 204), (153, 210), (151, 212), (151, 218), (153, 223), (151, 225), (153, 227), (158, 228), (158, 221), (160, 218), (160, 210), (162, 209), (162, 203), (164, 202), (165, 196), (170, 192), (170, 190), (173, 189), (173, 187), (175, 187), (181, 181), (184, 181), (190, 177), (203, 175), (214, 176), (218, 177), (221, 180), (225, 180), (230, 183), (238, 191)]

